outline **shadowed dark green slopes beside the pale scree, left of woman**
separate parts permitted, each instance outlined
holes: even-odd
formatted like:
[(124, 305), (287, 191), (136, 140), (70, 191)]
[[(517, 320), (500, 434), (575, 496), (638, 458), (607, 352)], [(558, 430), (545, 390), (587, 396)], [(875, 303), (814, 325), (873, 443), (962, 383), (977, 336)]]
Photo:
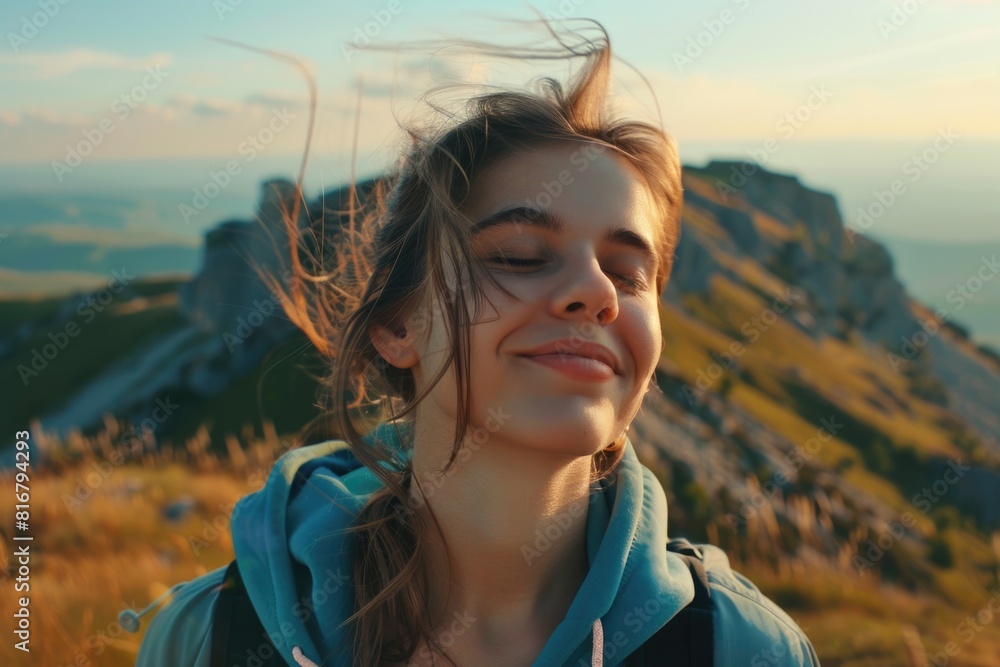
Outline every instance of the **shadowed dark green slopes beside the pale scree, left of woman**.
[[(93, 320), (73, 312), (68, 320), (39, 328), (39, 332), (19, 343), (13, 353), (0, 360), (0, 377), (14, 387), (0, 413), (0, 429), (10, 432), (25, 428), (28, 421), (60, 405), (81, 386), (108, 366), (124, 359), (145, 343), (184, 324), (178, 310), (177, 282), (136, 281), (132, 288), (148, 301), (112, 301)], [(65, 298), (0, 301), (0, 336), (10, 335), (18, 323), (50, 321)], [(65, 349), (47, 360), (37, 376), (27, 384), (19, 366), (30, 368), (32, 351), (52, 342), (50, 333), (62, 332), (66, 322), (79, 326), (79, 334), (68, 339)], [(315, 376), (323, 373), (321, 362), (304, 337), (295, 337), (268, 354), (264, 362), (239, 378), (219, 395), (204, 398), (170, 394), (172, 401), (195, 409), (160, 430), (158, 437), (183, 443), (207, 422), (214, 446), (227, 434), (238, 434), (245, 426), (262, 433), (264, 421), (279, 430), (291, 431), (317, 414)]]

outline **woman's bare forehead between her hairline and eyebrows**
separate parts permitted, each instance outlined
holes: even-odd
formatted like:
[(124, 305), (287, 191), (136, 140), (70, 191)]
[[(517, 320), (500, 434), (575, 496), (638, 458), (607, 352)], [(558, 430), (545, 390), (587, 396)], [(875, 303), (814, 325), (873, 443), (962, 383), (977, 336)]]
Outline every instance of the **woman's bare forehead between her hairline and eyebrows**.
[(551, 142), (499, 159), (473, 177), (462, 209), (476, 222), (511, 206), (548, 210), (578, 231), (622, 226), (656, 233), (642, 174), (592, 141)]

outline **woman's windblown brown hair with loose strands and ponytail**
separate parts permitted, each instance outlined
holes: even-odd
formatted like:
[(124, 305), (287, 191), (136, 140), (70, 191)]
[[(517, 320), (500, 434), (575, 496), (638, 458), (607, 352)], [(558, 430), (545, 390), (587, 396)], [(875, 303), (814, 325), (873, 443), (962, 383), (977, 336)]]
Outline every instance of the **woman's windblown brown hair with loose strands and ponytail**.
[[(476, 174), (505, 156), (545, 142), (594, 142), (611, 148), (641, 172), (656, 204), (662, 222), (656, 239), (658, 296), (666, 286), (680, 233), (682, 188), (677, 152), (662, 129), (610, 115), (610, 40), (603, 26), (593, 23), (600, 37), (568, 45), (545, 22), (560, 46), (516, 56), (551, 58), (558, 52), (558, 57), (582, 59), (584, 65), (568, 90), (555, 79), (543, 77), (532, 92), (505, 90), (473, 97), (466, 103), (464, 117), (456, 120), (449, 115), (445, 127), (405, 128), (410, 139), (407, 154), (388, 178), (372, 185), (364, 202), (352, 176), (347, 209), (342, 211), (346, 224), (342, 222), (326, 243), (333, 251), (332, 260), (324, 260), (320, 253), (308, 258), (310, 270), (304, 268), (299, 250), (306, 244), (299, 238), (299, 212), (286, 215), (293, 239), (293, 278), (287, 286), (268, 277), (265, 280), (279, 295), (288, 317), (329, 360), (331, 370), (323, 380), (340, 437), (384, 483), (352, 528), (356, 613), (348, 623), (353, 623), (355, 664), (401, 662), (413, 655), (421, 641), (434, 646), (422, 560), (428, 526), (417, 513), (407, 511), (412, 470), (401, 451), (380, 440), (365, 439), (363, 432), (375, 424), (405, 425), (401, 418), (454, 365), (459, 417), (444, 470), (455, 463), (470, 424), (467, 333), (475, 320), (467, 307), (466, 290), (471, 290), (477, 312), (483, 298), (480, 277), (510, 294), (489, 272), (480, 270), (469, 250), (467, 224), (459, 208)], [(299, 187), (297, 199), (301, 198), (301, 174)], [(294, 208), (298, 208), (297, 201)], [(442, 261), (444, 253), (448, 268)], [(449, 277), (450, 267), (459, 275)], [(384, 325), (396, 331), (406, 327), (409, 332), (426, 323), (428, 309), (439, 306), (451, 353), (418, 396), (412, 372), (386, 363), (369, 330)], [(354, 400), (348, 402), (351, 395)], [(405, 435), (399, 438), (404, 450), (411, 446)], [(596, 454), (593, 479), (610, 473), (622, 451), (612, 448)]]

